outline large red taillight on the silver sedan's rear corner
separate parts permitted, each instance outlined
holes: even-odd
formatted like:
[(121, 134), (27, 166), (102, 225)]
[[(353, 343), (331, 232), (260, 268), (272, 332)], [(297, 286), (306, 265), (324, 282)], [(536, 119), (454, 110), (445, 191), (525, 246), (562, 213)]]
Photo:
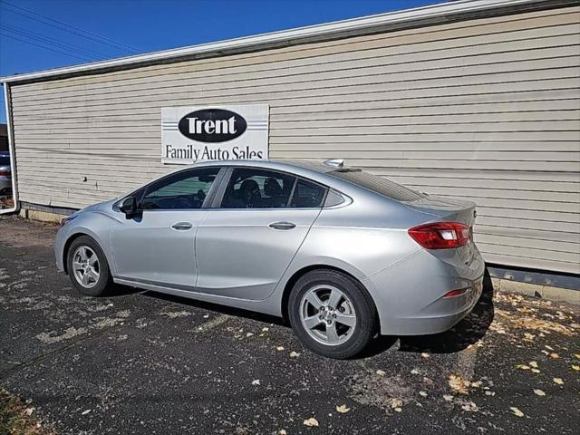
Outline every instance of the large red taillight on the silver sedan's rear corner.
[(469, 241), (469, 227), (459, 222), (435, 222), (412, 227), (409, 236), (427, 249), (463, 247)]

